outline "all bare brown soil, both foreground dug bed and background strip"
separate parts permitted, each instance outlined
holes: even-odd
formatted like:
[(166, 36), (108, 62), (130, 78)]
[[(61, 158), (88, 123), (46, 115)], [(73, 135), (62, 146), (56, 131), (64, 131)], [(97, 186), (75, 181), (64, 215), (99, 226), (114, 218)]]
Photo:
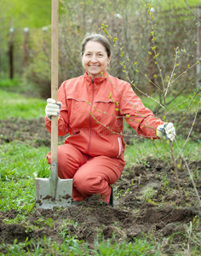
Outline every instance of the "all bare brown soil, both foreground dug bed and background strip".
[[(198, 113), (197, 123), (193, 127), (192, 140), (195, 142), (200, 139), (200, 117), (201, 114)], [(192, 119), (189, 116), (185, 122), (192, 124)], [(184, 135), (187, 134), (188, 128), (183, 132)], [(49, 132), (44, 127), (43, 119), (0, 120), (0, 143), (14, 140), (28, 142), (33, 147), (50, 145)], [(60, 142), (63, 140), (61, 137)], [(129, 140), (127, 143), (132, 142)], [(201, 160), (187, 162), (201, 195)], [(107, 206), (97, 195), (93, 195), (82, 204), (65, 209), (35, 209), (25, 222), (18, 224), (5, 224), (3, 220), (13, 219), (20, 212), (14, 209), (0, 212), (0, 243), (4, 241), (5, 244), (12, 244), (14, 239), (20, 242), (25, 241), (26, 237), (37, 241), (37, 238), (43, 236), (61, 243), (70, 232), (78, 240), (88, 242), (91, 248), (99, 233), (105, 239), (114, 239), (115, 235), (118, 242), (134, 241), (135, 237), (151, 234), (155, 241), (165, 241), (163, 250), (169, 254), (174, 253), (172, 245), (177, 250), (182, 250), (183, 245), (188, 242), (192, 247), (195, 243), (189, 242), (187, 229), (190, 222), (201, 213), (192, 182), (182, 162), (178, 175), (182, 198), (176, 185), (174, 167), (169, 162), (149, 158), (145, 164), (134, 163), (129, 170), (123, 171), (118, 183), (113, 185), (114, 207)], [(47, 220), (47, 223), (52, 218), (54, 222), (40, 224), (41, 218)], [(33, 226), (34, 229), (31, 228)], [(196, 229), (201, 232), (200, 225)], [(173, 240), (168, 239), (170, 236)], [(0, 249), (0, 253), (5, 252)]]

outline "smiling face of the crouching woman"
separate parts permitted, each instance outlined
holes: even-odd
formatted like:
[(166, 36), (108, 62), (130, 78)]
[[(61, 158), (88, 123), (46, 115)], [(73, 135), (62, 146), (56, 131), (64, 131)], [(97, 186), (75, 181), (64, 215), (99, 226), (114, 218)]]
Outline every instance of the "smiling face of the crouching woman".
[(109, 65), (111, 57), (107, 56), (106, 48), (99, 42), (89, 41), (83, 51), (83, 68), (88, 75), (95, 79), (101, 77)]

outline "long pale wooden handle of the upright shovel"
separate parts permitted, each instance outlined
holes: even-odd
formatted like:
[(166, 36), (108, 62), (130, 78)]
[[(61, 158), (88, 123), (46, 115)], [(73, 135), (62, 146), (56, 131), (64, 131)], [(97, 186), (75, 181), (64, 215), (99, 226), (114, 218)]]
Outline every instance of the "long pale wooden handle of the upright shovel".
[[(51, 97), (58, 102), (59, 0), (52, 0)], [(51, 162), (58, 162), (58, 117), (51, 120)]]

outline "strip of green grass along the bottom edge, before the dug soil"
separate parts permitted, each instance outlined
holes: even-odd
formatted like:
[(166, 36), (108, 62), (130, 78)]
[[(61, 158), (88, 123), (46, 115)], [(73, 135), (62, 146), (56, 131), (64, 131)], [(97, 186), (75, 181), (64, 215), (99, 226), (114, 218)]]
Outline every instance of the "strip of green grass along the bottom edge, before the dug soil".
[[(115, 237), (114, 237), (115, 239)], [(3, 245), (0, 245), (3, 247)], [(27, 251), (28, 248), (28, 251)], [(25, 242), (14, 241), (7, 248), (8, 255), (94, 255), (94, 256), (131, 256), (131, 255), (159, 255), (158, 245), (146, 238), (135, 239), (134, 242), (116, 243), (112, 240), (105, 241), (102, 236), (97, 236), (95, 249), (89, 249), (88, 244), (78, 241), (74, 237), (67, 237), (63, 243), (57, 243), (46, 236), (43, 239)], [(86, 252), (86, 253), (83, 253)]]

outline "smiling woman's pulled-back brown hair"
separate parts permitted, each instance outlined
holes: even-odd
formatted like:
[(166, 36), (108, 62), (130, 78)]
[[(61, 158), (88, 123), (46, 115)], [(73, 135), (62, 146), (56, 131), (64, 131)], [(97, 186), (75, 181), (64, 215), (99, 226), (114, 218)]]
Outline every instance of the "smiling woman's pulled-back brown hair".
[(81, 55), (83, 56), (83, 52), (85, 49), (86, 44), (89, 41), (94, 41), (94, 42), (98, 42), (100, 44), (102, 44), (105, 48), (106, 48), (106, 53), (108, 58), (111, 56), (111, 46), (109, 41), (102, 35), (100, 34), (96, 34), (95, 32), (91, 33), (91, 34), (86, 34), (85, 38), (83, 38), (83, 42), (82, 42), (82, 48), (81, 48)]

